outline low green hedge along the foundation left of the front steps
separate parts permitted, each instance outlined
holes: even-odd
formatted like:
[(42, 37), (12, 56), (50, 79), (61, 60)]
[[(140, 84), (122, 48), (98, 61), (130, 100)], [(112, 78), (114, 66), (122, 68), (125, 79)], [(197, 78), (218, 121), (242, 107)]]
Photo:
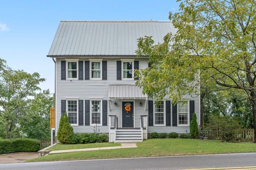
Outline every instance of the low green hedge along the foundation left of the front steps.
[(108, 136), (106, 134), (95, 134), (95, 133), (85, 133), (85, 134), (72, 134), (68, 144), (77, 143), (95, 143), (95, 142), (108, 142)]

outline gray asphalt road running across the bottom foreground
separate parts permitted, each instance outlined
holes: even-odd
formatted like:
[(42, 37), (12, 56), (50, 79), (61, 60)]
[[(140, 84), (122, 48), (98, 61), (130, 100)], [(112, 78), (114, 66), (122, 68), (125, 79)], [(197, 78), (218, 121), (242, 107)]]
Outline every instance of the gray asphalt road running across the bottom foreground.
[[(239, 168), (238, 168), (239, 167)], [(250, 168), (249, 168), (250, 167)], [(256, 170), (256, 153), (1, 164), (0, 170)]]

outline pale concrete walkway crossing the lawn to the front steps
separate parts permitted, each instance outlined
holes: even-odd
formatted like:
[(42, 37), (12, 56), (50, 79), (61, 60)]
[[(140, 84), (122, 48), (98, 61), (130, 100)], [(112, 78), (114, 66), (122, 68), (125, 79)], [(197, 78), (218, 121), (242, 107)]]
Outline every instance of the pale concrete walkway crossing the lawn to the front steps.
[(112, 147), (93, 147), (93, 148), (84, 148), (84, 149), (54, 150), (54, 151), (50, 151), (49, 154), (78, 152), (78, 151), (91, 151), (91, 150), (132, 148), (132, 147), (137, 147), (136, 143), (121, 143), (121, 146), (112, 146)]

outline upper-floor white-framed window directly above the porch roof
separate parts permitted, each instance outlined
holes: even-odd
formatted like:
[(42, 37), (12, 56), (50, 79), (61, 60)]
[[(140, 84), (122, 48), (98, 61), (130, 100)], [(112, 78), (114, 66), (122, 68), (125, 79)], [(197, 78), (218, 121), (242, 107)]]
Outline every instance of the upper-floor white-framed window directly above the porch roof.
[(122, 79), (133, 79), (134, 63), (133, 60), (122, 61)]

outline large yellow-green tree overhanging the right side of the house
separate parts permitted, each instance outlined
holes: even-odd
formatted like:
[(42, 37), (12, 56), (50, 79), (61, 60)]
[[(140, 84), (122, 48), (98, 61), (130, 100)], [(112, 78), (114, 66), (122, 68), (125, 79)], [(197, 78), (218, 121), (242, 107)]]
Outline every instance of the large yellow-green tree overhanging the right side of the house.
[(137, 55), (148, 56), (152, 67), (137, 72), (137, 85), (151, 98), (169, 94), (173, 102), (198, 94), (200, 82), (232, 88), (248, 96), (256, 125), (255, 0), (178, 1), (179, 11), (169, 14), (176, 34), (160, 44), (150, 36), (138, 39)]

